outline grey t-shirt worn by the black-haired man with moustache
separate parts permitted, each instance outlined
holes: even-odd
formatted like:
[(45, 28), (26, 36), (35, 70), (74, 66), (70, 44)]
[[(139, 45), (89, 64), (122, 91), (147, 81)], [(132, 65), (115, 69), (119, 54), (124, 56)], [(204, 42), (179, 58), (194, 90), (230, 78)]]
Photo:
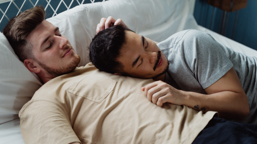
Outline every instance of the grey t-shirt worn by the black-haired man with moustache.
[(198, 30), (178, 32), (157, 44), (169, 61), (166, 82), (183, 91), (206, 94), (205, 88), (232, 67), (246, 92), (250, 112), (243, 123), (257, 124), (256, 57), (234, 52)]

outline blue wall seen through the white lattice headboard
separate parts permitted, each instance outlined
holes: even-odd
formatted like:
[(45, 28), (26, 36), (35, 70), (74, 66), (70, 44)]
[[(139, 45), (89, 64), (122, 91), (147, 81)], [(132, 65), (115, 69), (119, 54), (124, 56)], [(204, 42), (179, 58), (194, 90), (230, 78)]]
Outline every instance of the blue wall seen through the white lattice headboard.
[[(33, 4), (36, 4), (37, 0), (31, 0)], [(49, 0), (48, 0), (49, 1)], [(78, 0), (80, 3), (83, 0)], [(101, 2), (103, 0), (95, 0), (95, 2)], [(17, 7), (21, 7), (24, 0), (15, 0), (14, 1), (15, 4), (17, 5)], [(69, 7), (71, 0), (64, 0), (64, 2), (66, 3), (66, 5)], [(58, 6), (58, 4), (60, 3), (60, 0), (52, 0), (50, 2), (51, 6), (53, 7), (53, 9), (55, 10)], [(87, 3), (91, 3), (90, 0), (85, 0), (83, 2), (83, 4), (87, 4)], [(2, 3), (0, 4), (0, 8), (5, 12), (6, 8), (8, 7), (8, 5), (10, 4), (10, 2), (6, 2), (6, 3)], [(42, 5), (43, 7), (46, 7), (47, 2), (45, 0), (39, 0), (37, 5)], [(76, 0), (73, 1), (73, 3), (71, 4), (71, 8), (75, 7), (79, 5), (78, 2)], [(33, 5), (30, 3), (30, 1), (26, 1), (23, 8), (21, 9), (21, 11), (23, 12), (24, 10), (30, 9), (31, 7), (33, 7)], [(63, 11), (67, 10), (67, 8), (65, 7), (64, 3), (61, 3), (60, 7), (57, 10), (57, 14), (61, 13)], [(18, 13), (18, 9), (16, 8), (16, 6), (12, 3), (11, 6), (9, 7), (6, 15), (9, 19), (15, 17)], [(54, 11), (52, 10), (52, 8), (50, 6), (47, 7), (46, 9), (46, 18), (52, 17), (52, 15), (54, 14)], [(2, 18), (3, 13), (0, 11), (0, 19)], [(100, 21), (100, 20), (99, 20)], [(8, 23), (8, 19), (6, 17), (4, 17), (4, 19), (2, 20), (1, 24), (0, 24), (0, 31), (2, 32), (3, 28), (5, 27), (5, 25)]]

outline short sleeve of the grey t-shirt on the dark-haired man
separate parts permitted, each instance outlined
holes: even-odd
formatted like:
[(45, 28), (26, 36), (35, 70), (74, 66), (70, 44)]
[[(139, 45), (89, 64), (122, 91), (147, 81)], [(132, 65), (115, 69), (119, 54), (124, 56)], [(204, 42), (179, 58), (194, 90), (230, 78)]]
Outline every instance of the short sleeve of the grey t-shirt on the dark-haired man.
[(185, 64), (203, 89), (212, 85), (233, 67), (233, 63), (222, 50), (222, 45), (205, 32), (189, 30), (179, 43)]

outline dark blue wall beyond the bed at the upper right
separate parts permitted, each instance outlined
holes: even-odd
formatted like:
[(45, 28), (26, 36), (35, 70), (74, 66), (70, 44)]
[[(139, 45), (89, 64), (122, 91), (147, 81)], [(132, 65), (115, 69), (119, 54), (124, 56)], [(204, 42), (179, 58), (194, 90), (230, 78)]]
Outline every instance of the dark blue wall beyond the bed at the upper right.
[[(194, 17), (199, 25), (210, 28), (212, 8), (211, 5), (207, 4), (207, 0), (196, 0)], [(218, 32), (221, 13), (220, 9), (215, 8), (211, 26), (211, 30), (214, 32)], [(232, 37), (236, 13), (236, 11), (229, 13), (224, 35), (228, 38)], [(246, 8), (239, 10), (233, 40), (257, 50), (257, 0), (248, 0)]]

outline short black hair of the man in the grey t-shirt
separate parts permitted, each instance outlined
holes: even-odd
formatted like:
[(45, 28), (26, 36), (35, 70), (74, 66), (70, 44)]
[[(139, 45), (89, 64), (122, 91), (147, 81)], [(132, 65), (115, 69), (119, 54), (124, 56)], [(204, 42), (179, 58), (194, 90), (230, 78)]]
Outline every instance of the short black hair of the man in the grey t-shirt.
[(126, 31), (132, 30), (126, 26), (115, 25), (95, 35), (88, 48), (89, 60), (96, 68), (108, 73), (127, 75), (124, 65), (117, 60), (121, 47), (126, 44)]

